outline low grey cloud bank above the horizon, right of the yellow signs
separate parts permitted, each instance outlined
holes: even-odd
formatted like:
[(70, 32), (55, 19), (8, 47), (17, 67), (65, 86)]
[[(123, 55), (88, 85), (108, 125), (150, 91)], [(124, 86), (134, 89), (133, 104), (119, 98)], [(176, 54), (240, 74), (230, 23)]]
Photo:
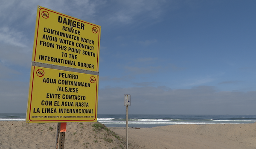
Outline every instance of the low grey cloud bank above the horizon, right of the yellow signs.
[(131, 114), (253, 115), (256, 104), (256, 91), (217, 92), (213, 86), (176, 90), (165, 86), (106, 87), (99, 90), (99, 114), (122, 111), (124, 94), (131, 95)]

